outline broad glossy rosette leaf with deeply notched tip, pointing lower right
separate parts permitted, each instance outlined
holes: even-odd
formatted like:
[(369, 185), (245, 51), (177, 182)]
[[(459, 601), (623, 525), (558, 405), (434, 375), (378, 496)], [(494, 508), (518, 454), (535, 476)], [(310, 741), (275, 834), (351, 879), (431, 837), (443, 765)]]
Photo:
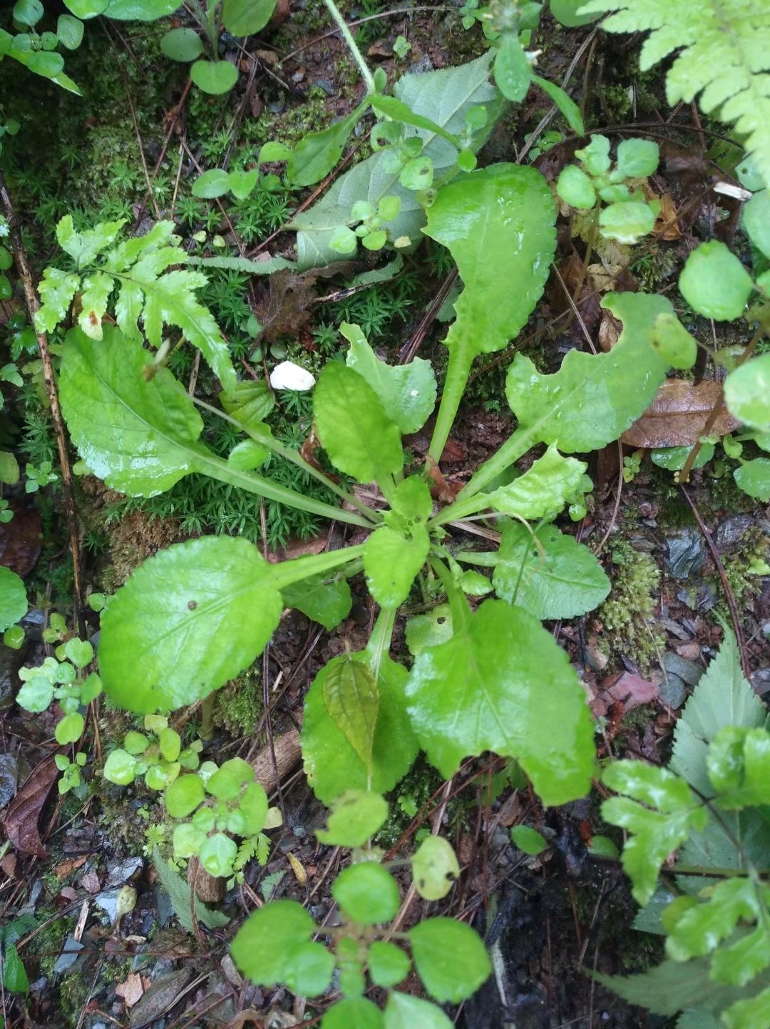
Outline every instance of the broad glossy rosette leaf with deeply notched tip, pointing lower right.
[(593, 770), (591, 720), (553, 636), (501, 600), (484, 601), (454, 631), (418, 654), (407, 683), (412, 725), (431, 764), (449, 778), (464, 757), (493, 750), (522, 765), (545, 804), (583, 796)]

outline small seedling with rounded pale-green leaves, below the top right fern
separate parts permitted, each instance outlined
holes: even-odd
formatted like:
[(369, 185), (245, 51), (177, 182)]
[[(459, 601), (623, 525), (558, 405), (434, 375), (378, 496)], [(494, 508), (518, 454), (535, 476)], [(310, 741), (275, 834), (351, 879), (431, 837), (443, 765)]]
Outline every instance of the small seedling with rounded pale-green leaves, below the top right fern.
[[(593, 210), (599, 234), (605, 240), (637, 243), (653, 230), (660, 212), (658, 201), (647, 201), (633, 180), (645, 179), (658, 167), (658, 144), (645, 139), (624, 139), (618, 144), (612, 164), (609, 140), (595, 135), (582, 150), (575, 150), (577, 165), (562, 169), (556, 190), (565, 204), (576, 210)], [(606, 206), (602, 206), (601, 202)]]

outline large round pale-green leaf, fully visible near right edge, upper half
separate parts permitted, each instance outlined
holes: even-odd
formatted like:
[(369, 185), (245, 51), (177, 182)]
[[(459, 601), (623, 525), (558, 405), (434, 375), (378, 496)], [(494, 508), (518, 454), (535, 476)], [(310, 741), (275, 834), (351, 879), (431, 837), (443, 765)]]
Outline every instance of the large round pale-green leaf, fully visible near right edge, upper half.
[(679, 276), (679, 292), (690, 307), (716, 321), (740, 318), (752, 289), (748, 272), (719, 240), (701, 243)]

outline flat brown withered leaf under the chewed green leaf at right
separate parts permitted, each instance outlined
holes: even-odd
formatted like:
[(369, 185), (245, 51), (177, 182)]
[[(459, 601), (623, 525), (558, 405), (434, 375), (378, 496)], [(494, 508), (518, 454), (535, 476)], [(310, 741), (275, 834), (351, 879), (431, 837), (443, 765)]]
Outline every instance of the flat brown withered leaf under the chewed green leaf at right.
[[(644, 414), (623, 433), (629, 447), (693, 447), (703, 434), (714, 404), (722, 396), (722, 384), (669, 379), (663, 383)], [(740, 423), (727, 409), (720, 412), (709, 430), (715, 436), (727, 435)]]

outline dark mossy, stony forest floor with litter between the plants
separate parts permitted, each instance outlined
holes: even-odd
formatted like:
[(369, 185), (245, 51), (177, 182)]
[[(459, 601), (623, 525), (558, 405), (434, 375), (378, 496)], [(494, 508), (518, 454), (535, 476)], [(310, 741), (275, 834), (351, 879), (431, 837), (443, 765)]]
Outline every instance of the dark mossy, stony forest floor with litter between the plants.
[[(126, 217), (128, 227), (140, 232), (148, 219), (166, 216), (177, 220), (185, 245), (196, 246), (194, 235), (203, 234), (198, 245), (207, 253), (218, 252), (215, 237), (221, 236), (226, 252), (290, 255), (293, 236), (282, 227), (299, 205), (308, 203), (310, 190), (289, 194), (276, 188), (222, 208), (194, 198), (190, 185), (199, 171), (255, 155), (269, 139), (294, 143), (355, 105), (361, 92), (356, 68), (325, 19), (313, 10), (309, 2), (301, 5), (238, 52), (240, 79), (224, 99), (187, 88), (184, 67), (160, 54), (162, 30), (154, 25), (89, 25), (83, 47), (68, 58), (82, 98), (30, 77), (19, 86), (13, 78), (19, 72), (8, 62), (0, 65), (0, 94), (13, 97), (15, 116), (26, 126), (6, 148), (4, 174), (35, 278), (55, 255), (54, 227), (67, 212), (81, 225)], [(463, 30), (456, 9), (387, 13), (366, 3), (348, 5), (345, 12), (360, 21), (364, 54), (389, 76), (447, 67), (485, 48), (479, 26)], [(402, 57), (393, 52), (398, 37), (409, 44)], [(694, 108), (666, 107), (660, 77), (638, 72), (635, 46), (591, 26), (560, 29), (549, 15), (535, 43), (542, 49), (541, 73), (558, 82), (568, 76), (566, 87), (592, 129), (614, 141), (642, 136), (660, 144), (661, 167), (651, 186), (667, 218), (628, 253), (619, 252), (617, 259), (605, 254), (585, 281), (585, 245), (561, 219), (561, 278), (552, 277), (520, 339), (475, 367), (445, 452), (445, 473), (458, 480), (511, 432), (501, 369), (514, 352), (525, 350), (542, 370), (554, 370), (565, 352), (585, 348), (587, 338), (600, 340), (607, 330), (600, 307), (603, 289), (673, 292), (696, 242), (714, 234), (733, 240), (737, 228), (726, 201), (712, 190), (714, 182), (729, 180), (724, 170), (729, 146), (701, 123)], [(500, 122), (485, 155), (534, 158), (553, 181), (579, 145), (547, 98), (533, 90)], [(358, 159), (363, 148), (364, 137), (354, 138), (348, 158)], [(345, 284), (361, 268), (358, 262), (330, 278), (267, 283), (221, 273), (212, 277), (204, 298), (230, 339), (238, 341), (244, 361), (288, 357), (317, 372), (341, 346), (335, 326), (348, 320), (361, 324), (388, 360), (417, 348), (441, 371), (446, 330), (433, 316), (452, 272), (446, 252), (433, 247), (407, 257), (390, 282), (348, 295)], [(14, 308), (4, 304), (3, 309), (9, 343)], [(256, 341), (261, 347), (256, 357), (255, 342), (244, 330), (253, 313), (273, 325)], [(689, 324), (699, 338), (711, 339), (709, 323), (692, 316)], [(293, 331), (286, 331), (287, 325)], [(198, 378), (191, 358), (175, 360), (173, 370), (182, 381)], [(706, 380), (714, 374), (710, 362), (698, 372)], [(205, 396), (211, 383), (204, 375), (199, 383)], [(761, 696), (770, 690), (767, 508), (737, 489), (728, 457), (697, 470), (684, 489), (646, 454), (692, 431), (692, 387), (685, 382), (676, 410), (646, 427), (658, 435), (611, 445), (593, 461), (595, 503), (575, 531), (601, 556), (612, 592), (592, 614), (549, 625), (601, 719), (603, 752), (655, 762), (666, 759), (677, 712), (719, 646), (716, 615), (736, 632), (756, 690)], [(40, 397), (35, 383), (28, 382), (5, 411), (20, 463), (37, 467), (46, 460), (56, 463), (54, 433)], [(285, 403), (278, 411), (278, 431), (301, 441), (308, 416), (301, 399), (293, 407)], [(217, 438), (211, 426), (208, 431), (212, 446), (226, 448), (229, 440)], [(419, 451), (424, 440), (415, 438), (413, 446)], [(631, 459), (625, 476), (624, 457)], [(317, 670), (346, 646), (357, 649), (365, 638), (374, 612), (363, 592), (350, 617), (330, 634), (297, 612), (285, 616), (265, 657), (217, 699), (213, 723), (205, 726), (212, 752), (265, 760), (268, 718), (271, 739), (286, 748), (284, 774), (280, 783), (272, 782), (284, 826), (271, 837), (267, 863), (252, 861), (245, 882), (219, 898), (229, 924), (197, 938), (179, 927), (152, 865), (153, 847), (162, 853), (170, 847), (156, 794), (140, 784), (120, 788), (103, 782), (59, 799), (50, 790), (55, 713), (31, 716), (14, 706), (13, 696), (21, 665), (39, 663), (49, 649), (40, 634), (50, 611), (71, 612), (72, 563), (62, 493), (48, 486), (6, 496), (14, 518), (0, 525), (2, 563), (25, 577), (36, 601), (25, 620), (27, 644), (20, 651), (3, 647), (0, 675), (0, 809), (7, 817), (7, 806), (27, 783), (27, 804), (16, 807), (14, 817), (33, 841), (31, 853), (7, 851), (0, 862), (0, 921), (25, 914), (34, 919), (18, 945), (30, 992), (0, 998), (4, 1024), (70, 1029), (304, 1024), (306, 1003), (283, 989), (246, 983), (227, 955), (227, 942), (254, 895), (294, 897), (309, 903), (317, 921), (334, 924), (329, 874), (339, 854), (313, 836), (323, 809), (299, 771), (292, 731)], [(328, 532), (325, 525), (292, 521), (276, 508), (262, 511), (262, 521), (253, 498), (225, 496), (197, 483), (137, 502), (86, 477), (76, 482), (76, 499), (84, 541), (79, 572), (86, 593), (114, 591), (145, 557), (196, 534), (241, 532), (281, 556), (311, 552)], [(93, 615), (90, 631), (97, 628)], [(396, 643), (404, 645), (398, 633)], [(397, 650), (392, 655), (399, 657)], [(174, 724), (191, 734), (201, 729), (201, 713), (187, 711)], [(127, 728), (128, 716), (103, 704), (97, 746), (108, 750)], [(396, 856), (439, 817), (460, 855), (460, 884), (451, 899), (433, 908), (442, 914), (471, 914), (472, 924), (497, 949), (499, 973), (456, 1013), (457, 1024), (467, 1029), (497, 1029), (506, 1019), (517, 1029), (655, 1024), (587, 974), (642, 970), (661, 950), (656, 937), (631, 927), (636, 909), (617, 861), (589, 855), (592, 833), (607, 831), (598, 795), (542, 810), (526, 789), (499, 791), (501, 767), (489, 757), (469, 761), (445, 788), (439, 774), (418, 760), (391, 796), (393, 813), (380, 838)], [(270, 761), (266, 768), (270, 779)], [(545, 855), (527, 857), (512, 847), (509, 830), (519, 822), (547, 833), (552, 846)], [(136, 891), (135, 903), (116, 920), (127, 885)], [(421, 913), (415, 902), (406, 912), (407, 924)]]

